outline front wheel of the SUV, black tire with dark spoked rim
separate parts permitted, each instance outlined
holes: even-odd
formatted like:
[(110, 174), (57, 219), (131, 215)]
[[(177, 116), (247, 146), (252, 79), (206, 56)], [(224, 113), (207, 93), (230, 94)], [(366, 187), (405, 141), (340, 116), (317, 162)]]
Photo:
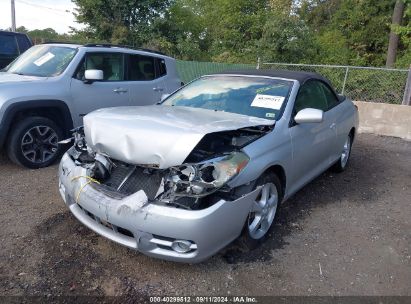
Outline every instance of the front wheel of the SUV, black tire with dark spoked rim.
[(51, 119), (27, 117), (15, 124), (8, 137), (7, 154), (15, 164), (38, 169), (48, 167), (61, 156), (62, 129)]

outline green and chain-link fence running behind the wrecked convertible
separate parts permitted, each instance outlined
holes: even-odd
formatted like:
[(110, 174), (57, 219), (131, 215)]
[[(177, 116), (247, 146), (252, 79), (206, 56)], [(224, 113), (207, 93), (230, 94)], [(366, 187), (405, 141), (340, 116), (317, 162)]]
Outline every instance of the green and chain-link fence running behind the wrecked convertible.
[(236, 69), (276, 69), (316, 72), (328, 78), (338, 93), (352, 100), (401, 104), (409, 70), (340, 65), (289, 63), (228, 64), (177, 60), (177, 70), (184, 83), (202, 75)]

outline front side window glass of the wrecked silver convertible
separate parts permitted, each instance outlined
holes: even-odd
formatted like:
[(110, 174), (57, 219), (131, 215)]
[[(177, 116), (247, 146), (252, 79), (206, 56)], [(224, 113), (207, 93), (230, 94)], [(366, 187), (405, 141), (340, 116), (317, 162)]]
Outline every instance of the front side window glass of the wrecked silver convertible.
[(295, 113), (298, 113), (302, 109), (306, 108), (327, 111), (327, 100), (325, 99), (320, 84), (321, 83), (319, 81), (311, 80), (301, 86), (295, 100)]

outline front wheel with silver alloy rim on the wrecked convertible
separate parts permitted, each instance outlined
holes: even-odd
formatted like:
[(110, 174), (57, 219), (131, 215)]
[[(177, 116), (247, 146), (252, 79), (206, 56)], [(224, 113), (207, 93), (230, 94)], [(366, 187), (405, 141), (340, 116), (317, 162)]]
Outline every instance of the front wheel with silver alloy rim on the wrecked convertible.
[[(242, 247), (245, 251), (251, 251), (259, 247), (269, 235), (269, 232), (272, 228), (272, 224), (275, 220), (275, 215), (278, 210), (278, 206), (281, 203), (283, 197), (283, 189), (281, 186), (280, 179), (274, 173), (264, 173), (255, 183), (255, 188), (262, 186), (263, 189), (259, 196), (256, 199), (254, 204), (259, 205), (257, 208), (252, 208), (250, 213), (247, 216), (247, 220), (244, 224), (243, 232), (239, 238)], [(266, 208), (263, 208), (264, 204), (264, 192), (268, 194), (268, 203), (271, 199), (274, 198), (271, 205), (268, 205)], [(256, 207), (254, 205), (253, 207)], [(265, 219), (263, 218), (265, 216)], [(259, 218), (260, 217), (260, 223)], [(265, 223), (265, 224), (264, 224)], [(264, 226), (263, 226), (264, 225)], [(253, 231), (253, 228), (256, 228)], [(260, 227), (260, 228), (258, 228)]]

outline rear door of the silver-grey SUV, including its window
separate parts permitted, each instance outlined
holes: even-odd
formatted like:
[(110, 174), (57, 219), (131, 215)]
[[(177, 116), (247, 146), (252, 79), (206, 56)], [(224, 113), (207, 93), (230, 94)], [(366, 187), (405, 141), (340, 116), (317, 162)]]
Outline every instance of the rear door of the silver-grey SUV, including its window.
[(155, 104), (167, 92), (164, 59), (155, 56), (128, 54), (127, 85), (130, 103), (136, 106)]

